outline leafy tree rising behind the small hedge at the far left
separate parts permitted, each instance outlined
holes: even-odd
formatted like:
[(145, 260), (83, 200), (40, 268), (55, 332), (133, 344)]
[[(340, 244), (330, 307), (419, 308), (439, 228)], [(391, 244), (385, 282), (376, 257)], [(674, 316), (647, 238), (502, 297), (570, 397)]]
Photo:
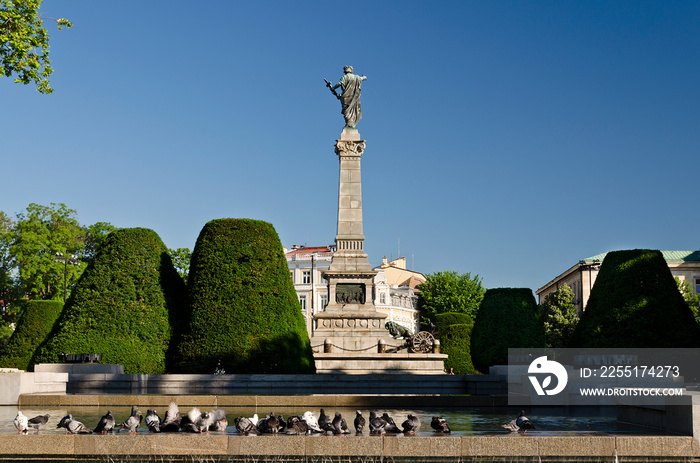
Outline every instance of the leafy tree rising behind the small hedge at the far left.
[(10, 257), (17, 266), (19, 284), (30, 299), (61, 299), (64, 283), (72, 285), (83, 269), (56, 261), (56, 254), (79, 256), (85, 244), (76, 211), (65, 204), (32, 203), (14, 226)]

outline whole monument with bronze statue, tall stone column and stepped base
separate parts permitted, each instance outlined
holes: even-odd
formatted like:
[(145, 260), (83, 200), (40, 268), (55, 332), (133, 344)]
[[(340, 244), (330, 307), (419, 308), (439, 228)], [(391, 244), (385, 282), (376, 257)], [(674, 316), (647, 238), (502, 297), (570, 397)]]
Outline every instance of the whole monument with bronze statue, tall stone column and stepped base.
[[(412, 372), (441, 373), (441, 354), (384, 353), (399, 344), (385, 328), (386, 314), (374, 305), (374, 277), (364, 250), (362, 229), (362, 176), (360, 160), (365, 140), (357, 130), (362, 118), (360, 92), (367, 77), (345, 66), (336, 85), (326, 86), (341, 102), (345, 127), (335, 143), (340, 163), (336, 252), (323, 273), (328, 282), (328, 305), (313, 319), (311, 345), (318, 372), (344, 373)], [(341, 93), (336, 89), (340, 87)], [(411, 361), (406, 362), (408, 356)], [(416, 362), (418, 361), (418, 362)], [(409, 365), (410, 364), (410, 365)]]

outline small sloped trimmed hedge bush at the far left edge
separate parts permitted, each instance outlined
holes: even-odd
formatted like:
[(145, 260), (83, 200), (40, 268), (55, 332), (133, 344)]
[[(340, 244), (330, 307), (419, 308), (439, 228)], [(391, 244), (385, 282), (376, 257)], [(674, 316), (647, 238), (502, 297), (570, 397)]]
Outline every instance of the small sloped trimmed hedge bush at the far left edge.
[(51, 333), (61, 310), (62, 301), (25, 302), (17, 327), (0, 357), (0, 367), (29, 371), (34, 352)]

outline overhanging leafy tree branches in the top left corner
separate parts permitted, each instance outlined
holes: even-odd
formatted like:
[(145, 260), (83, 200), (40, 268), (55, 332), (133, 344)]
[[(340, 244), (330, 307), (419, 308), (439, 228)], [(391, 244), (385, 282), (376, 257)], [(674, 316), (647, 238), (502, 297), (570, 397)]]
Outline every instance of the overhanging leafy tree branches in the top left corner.
[[(15, 82), (34, 82), (49, 94), (49, 34), (39, 14), (41, 0), (0, 0), (0, 75), (16, 75)], [(54, 19), (58, 29), (72, 27), (67, 19)]]

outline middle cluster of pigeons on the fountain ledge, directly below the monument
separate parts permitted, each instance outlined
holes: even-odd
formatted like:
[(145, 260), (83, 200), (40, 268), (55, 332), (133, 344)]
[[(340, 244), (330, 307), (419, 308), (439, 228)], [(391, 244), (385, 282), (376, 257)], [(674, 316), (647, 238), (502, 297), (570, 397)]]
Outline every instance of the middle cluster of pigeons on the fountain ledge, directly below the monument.
[[(243, 435), (249, 434), (326, 434), (339, 435), (350, 434), (348, 423), (340, 414), (335, 412), (331, 418), (326, 415), (326, 412), (321, 409), (321, 414), (314, 416), (313, 412), (307, 411), (301, 416), (290, 416), (286, 421), (282, 416), (276, 416), (274, 413), (267, 415), (265, 418), (258, 418), (255, 414), (251, 418), (239, 416), (235, 419), (236, 430)], [(353, 421), (356, 434), (362, 434), (365, 430), (369, 431), (370, 435), (382, 434), (415, 434), (420, 430), (420, 419), (408, 414), (406, 420), (399, 428), (393, 418), (388, 413), (378, 416), (374, 411), (369, 413), (369, 420), (365, 419), (360, 410), (357, 410)], [(450, 433), (450, 427), (447, 421), (439, 416), (434, 416), (430, 422), (430, 426), (435, 432), (444, 434)]]

